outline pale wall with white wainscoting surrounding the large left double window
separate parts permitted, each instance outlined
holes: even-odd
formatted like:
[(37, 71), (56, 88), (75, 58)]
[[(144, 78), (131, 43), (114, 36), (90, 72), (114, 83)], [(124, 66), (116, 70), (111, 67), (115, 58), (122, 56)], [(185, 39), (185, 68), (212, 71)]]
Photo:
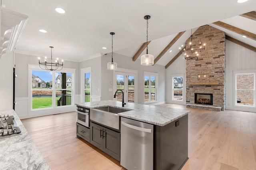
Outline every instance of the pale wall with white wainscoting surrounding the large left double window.
[[(64, 113), (68, 111), (75, 111), (76, 106), (66, 106), (66, 107), (56, 107), (56, 108), (46, 108), (42, 110), (31, 110), (30, 109), (30, 98), (28, 91), (28, 64), (38, 64), (38, 57), (32, 55), (24, 55), (24, 54), (15, 54), (15, 68), (16, 74), (18, 77), (15, 82), (15, 99), (17, 105), (15, 106), (15, 111), (17, 115), (22, 118), (27, 117), (36, 117), (41, 115), (50, 115), (54, 113)], [(79, 101), (79, 63), (64, 61), (65, 68), (75, 68), (75, 88), (74, 88), (74, 104)]]

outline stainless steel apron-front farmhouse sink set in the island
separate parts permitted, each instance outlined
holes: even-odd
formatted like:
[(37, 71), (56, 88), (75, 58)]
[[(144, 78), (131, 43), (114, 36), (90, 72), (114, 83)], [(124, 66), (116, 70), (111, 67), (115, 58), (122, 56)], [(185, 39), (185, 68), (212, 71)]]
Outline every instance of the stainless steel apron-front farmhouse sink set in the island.
[(130, 111), (132, 109), (123, 109), (120, 107), (104, 106), (90, 110), (90, 120), (102, 125), (120, 129), (120, 117), (118, 113)]

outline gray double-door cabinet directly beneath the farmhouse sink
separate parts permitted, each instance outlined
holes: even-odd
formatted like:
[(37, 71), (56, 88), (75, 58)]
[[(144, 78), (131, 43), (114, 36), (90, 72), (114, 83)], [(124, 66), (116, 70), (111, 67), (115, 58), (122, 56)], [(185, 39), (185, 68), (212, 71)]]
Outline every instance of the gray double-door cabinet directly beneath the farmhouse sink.
[(91, 122), (91, 144), (120, 161), (120, 133)]

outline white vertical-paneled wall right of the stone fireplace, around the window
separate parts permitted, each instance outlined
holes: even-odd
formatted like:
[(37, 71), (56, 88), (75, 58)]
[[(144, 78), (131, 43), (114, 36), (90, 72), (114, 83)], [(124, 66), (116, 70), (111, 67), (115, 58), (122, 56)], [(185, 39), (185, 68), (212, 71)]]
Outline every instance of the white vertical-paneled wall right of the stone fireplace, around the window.
[(256, 69), (256, 53), (226, 40), (226, 109), (255, 111), (250, 107), (234, 106), (233, 71)]

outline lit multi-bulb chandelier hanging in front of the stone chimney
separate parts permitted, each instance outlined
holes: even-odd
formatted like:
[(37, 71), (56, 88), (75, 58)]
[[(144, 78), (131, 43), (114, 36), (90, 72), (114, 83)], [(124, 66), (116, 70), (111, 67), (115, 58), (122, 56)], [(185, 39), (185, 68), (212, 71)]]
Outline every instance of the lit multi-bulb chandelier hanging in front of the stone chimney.
[(205, 44), (204, 44), (204, 47), (202, 47), (202, 42), (199, 42), (198, 46), (196, 46), (196, 43), (195, 45), (192, 45), (192, 29), (191, 29), (189, 45), (190, 46), (188, 48), (186, 45), (184, 48), (183, 48), (183, 45), (181, 46), (182, 48), (180, 48), (180, 51), (182, 50), (182, 53), (184, 53), (184, 58), (186, 60), (198, 59), (199, 53), (201, 53), (201, 51), (204, 50), (205, 48)]

